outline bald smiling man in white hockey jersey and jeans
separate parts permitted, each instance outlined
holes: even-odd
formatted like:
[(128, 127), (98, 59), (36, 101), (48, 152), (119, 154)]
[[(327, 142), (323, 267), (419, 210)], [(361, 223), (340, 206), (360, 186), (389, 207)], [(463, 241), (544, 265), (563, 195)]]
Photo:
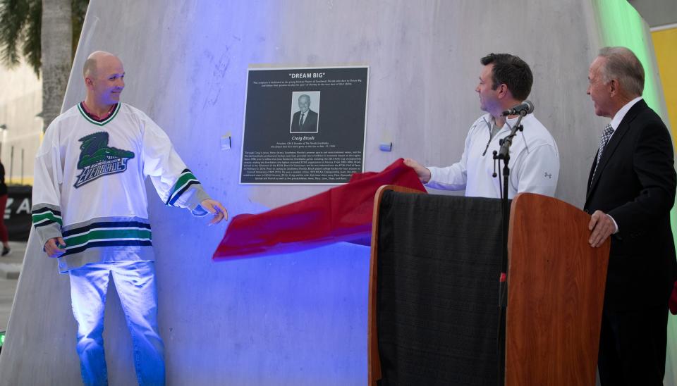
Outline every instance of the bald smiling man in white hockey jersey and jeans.
[(132, 336), (140, 385), (165, 380), (157, 328), (157, 290), (144, 180), (169, 206), (195, 216), (228, 218), (173, 150), (169, 137), (137, 108), (120, 101), (120, 59), (87, 58), (87, 96), (47, 128), (35, 161), (33, 225), (44, 251), (71, 281), (77, 346), (85, 385), (106, 385), (102, 332), (109, 278)]

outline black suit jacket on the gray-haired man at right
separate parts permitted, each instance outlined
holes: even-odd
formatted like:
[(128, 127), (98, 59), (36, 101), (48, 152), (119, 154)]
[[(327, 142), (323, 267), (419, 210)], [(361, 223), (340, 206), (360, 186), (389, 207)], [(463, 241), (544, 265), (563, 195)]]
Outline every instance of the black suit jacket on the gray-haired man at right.
[(676, 175), (669, 132), (642, 99), (609, 139), (597, 174), (592, 163), (585, 211), (616, 220), (606, 276), (604, 307), (666, 306), (677, 276), (670, 209)]

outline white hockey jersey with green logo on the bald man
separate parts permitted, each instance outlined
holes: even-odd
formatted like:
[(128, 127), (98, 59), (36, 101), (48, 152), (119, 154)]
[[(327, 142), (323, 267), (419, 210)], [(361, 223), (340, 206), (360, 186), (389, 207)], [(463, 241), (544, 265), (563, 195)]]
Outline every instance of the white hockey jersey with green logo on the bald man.
[(144, 180), (169, 206), (207, 214), (209, 196), (142, 111), (118, 103), (104, 120), (80, 103), (47, 128), (35, 158), (32, 220), (42, 245), (63, 237), (59, 272), (87, 263), (153, 261)]

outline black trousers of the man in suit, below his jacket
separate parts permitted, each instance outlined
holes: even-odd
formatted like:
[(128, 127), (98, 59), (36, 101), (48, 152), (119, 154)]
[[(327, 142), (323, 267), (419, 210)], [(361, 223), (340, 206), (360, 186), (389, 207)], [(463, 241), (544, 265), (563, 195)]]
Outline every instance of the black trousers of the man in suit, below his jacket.
[(597, 362), (602, 386), (662, 386), (667, 328), (667, 307), (604, 309)]

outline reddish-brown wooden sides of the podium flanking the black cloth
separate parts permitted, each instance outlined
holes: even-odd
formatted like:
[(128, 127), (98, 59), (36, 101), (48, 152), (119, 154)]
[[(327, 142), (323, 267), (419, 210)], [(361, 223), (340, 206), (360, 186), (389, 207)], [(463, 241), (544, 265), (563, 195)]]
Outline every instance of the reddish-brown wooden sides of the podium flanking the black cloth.
[[(382, 379), (377, 331), (379, 207), (374, 200), (367, 368), (369, 385)], [(594, 385), (609, 240), (587, 242), (590, 215), (558, 199), (518, 194), (508, 235), (505, 385)], [(496, 256), (500, 259), (500, 256)], [(497, 296), (497, 295), (496, 295)], [(499, 309), (496, 309), (496, 313)]]

